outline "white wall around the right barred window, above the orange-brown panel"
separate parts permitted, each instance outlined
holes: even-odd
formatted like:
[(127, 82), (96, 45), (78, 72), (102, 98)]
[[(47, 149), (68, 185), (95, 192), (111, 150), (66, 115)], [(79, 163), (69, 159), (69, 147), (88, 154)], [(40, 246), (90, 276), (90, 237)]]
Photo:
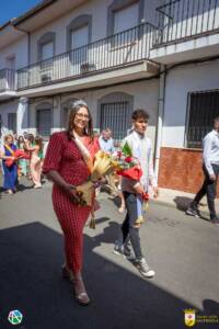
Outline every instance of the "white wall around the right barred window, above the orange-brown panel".
[(187, 93), (219, 89), (219, 61), (182, 66), (166, 76), (162, 146), (184, 147)]

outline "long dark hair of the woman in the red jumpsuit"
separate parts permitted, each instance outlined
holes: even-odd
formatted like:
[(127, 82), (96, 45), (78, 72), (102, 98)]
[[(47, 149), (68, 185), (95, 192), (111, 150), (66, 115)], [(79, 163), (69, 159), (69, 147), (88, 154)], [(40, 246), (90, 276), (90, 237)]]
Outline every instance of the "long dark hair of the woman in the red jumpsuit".
[(88, 123), (88, 128), (85, 129), (85, 135), (90, 136), (91, 139), (93, 139), (94, 134), (93, 134), (93, 121), (91, 117), (91, 112), (89, 110), (88, 104), (83, 101), (83, 100), (78, 100), (74, 101), (70, 104), (70, 113), (69, 113), (69, 117), (68, 117), (68, 127), (67, 127), (67, 134), (69, 138), (72, 138), (72, 131), (73, 131), (73, 122), (74, 122), (74, 117), (77, 115), (77, 112), (81, 109), (81, 107), (85, 107), (88, 110), (89, 113), (89, 123)]

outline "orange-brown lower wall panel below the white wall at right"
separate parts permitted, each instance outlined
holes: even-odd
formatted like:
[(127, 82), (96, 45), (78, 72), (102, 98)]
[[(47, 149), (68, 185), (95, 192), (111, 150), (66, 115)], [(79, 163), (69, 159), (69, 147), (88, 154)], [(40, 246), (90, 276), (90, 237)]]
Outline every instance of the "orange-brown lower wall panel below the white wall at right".
[[(159, 186), (196, 193), (204, 179), (201, 166), (200, 150), (162, 147)], [(219, 184), (217, 192), (219, 196)]]

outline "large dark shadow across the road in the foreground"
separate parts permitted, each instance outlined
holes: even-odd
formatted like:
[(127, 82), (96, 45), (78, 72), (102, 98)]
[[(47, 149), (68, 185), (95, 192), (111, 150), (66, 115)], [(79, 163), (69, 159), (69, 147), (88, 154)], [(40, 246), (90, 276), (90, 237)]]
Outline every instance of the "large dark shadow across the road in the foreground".
[(92, 304), (81, 307), (61, 279), (61, 235), (39, 223), (1, 230), (0, 328), (11, 328), (12, 309), (24, 316), (20, 329), (185, 328), (183, 310), (193, 305), (127, 271), (123, 261), (118, 265), (97, 254), (95, 248), (112, 243), (117, 232), (118, 225), (110, 223), (103, 234), (84, 236), (83, 272)]

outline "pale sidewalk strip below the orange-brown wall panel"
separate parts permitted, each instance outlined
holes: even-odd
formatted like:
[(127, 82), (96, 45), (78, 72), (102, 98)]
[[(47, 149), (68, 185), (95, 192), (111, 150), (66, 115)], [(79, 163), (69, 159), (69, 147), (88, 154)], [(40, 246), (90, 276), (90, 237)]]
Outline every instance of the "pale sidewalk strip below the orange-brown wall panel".
[[(152, 202), (166, 204), (181, 211), (186, 211), (188, 204), (195, 196), (193, 193), (162, 188), (159, 189), (159, 197), (157, 200), (151, 198)], [(201, 200), (199, 209), (201, 213), (209, 215), (206, 197)], [(219, 213), (219, 198), (216, 198), (216, 211)]]

